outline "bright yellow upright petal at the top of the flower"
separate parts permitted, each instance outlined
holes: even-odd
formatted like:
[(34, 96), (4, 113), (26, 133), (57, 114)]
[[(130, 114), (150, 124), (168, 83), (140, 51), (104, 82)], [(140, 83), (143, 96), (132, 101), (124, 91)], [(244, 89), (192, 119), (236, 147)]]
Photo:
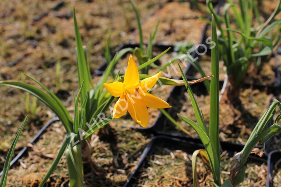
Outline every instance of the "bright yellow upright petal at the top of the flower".
[(139, 82), (140, 82), (139, 71), (136, 66), (136, 62), (133, 59), (133, 56), (131, 55), (124, 76), (124, 84), (126, 85), (126, 87), (130, 87), (139, 84)]

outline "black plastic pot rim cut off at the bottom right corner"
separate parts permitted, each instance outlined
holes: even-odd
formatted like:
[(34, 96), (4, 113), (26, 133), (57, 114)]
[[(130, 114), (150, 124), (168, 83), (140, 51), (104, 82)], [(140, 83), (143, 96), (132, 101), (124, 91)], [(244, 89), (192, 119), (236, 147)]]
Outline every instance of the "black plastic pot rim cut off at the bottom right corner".
[(277, 169), (277, 165), (275, 165), (277, 162), (280, 163), (281, 159), (281, 151), (274, 150), (271, 151), (268, 155), (267, 160), (267, 181), (266, 181), (266, 187), (270, 187), (272, 184), (272, 178), (273, 178), (273, 171), (274, 169)]

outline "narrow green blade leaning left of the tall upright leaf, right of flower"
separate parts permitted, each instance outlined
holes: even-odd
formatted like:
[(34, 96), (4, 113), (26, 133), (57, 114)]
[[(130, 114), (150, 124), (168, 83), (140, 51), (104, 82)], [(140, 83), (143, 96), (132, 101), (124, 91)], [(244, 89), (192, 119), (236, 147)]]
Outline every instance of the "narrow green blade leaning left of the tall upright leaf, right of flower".
[(192, 90), (190, 89), (190, 86), (189, 86), (189, 84), (188, 84), (188, 81), (187, 81), (187, 79), (186, 79), (186, 77), (185, 77), (185, 74), (184, 74), (183, 70), (181, 69), (179, 63), (178, 63), (178, 66), (179, 66), (179, 68), (180, 68), (181, 76), (182, 76), (182, 78), (183, 78), (183, 80), (184, 80), (184, 82), (185, 82), (185, 88), (186, 88), (187, 93), (188, 93), (188, 95), (189, 95), (189, 97), (190, 97), (190, 100), (191, 100), (191, 103), (192, 103), (192, 107), (193, 107), (193, 110), (194, 110), (194, 113), (195, 113), (196, 120), (197, 120), (197, 122), (198, 122), (198, 124), (199, 124), (199, 127), (200, 127), (201, 129), (203, 129), (203, 131), (205, 132), (205, 134), (209, 135), (209, 132), (208, 132), (208, 129), (207, 129), (207, 126), (206, 126), (206, 122), (205, 122), (204, 118), (202, 117), (202, 113), (200, 112), (200, 109), (199, 109), (199, 107), (198, 107), (198, 104), (197, 104), (197, 102), (196, 102), (196, 100), (195, 100), (195, 97), (194, 97), (194, 95), (193, 95), (193, 93), (192, 93)]

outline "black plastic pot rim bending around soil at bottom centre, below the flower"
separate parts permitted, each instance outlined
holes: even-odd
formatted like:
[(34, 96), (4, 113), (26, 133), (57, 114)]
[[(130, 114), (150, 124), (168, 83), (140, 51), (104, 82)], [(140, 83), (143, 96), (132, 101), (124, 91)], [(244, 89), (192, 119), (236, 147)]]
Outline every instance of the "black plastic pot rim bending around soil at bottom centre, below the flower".
[[(136, 166), (136, 169), (129, 176), (123, 187), (132, 187), (138, 185), (137, 181), (140, 178), (140, 170), (144, 168), (145, 164), (149, 161), (150, 156), (155, 152), (156, 146), (159, 146), (160, 149), (163, 150), (182, 150), (189, 154), (192, 154), (195, 150), (204, 149), (203, 144), (194, 141), (189, 141), (188, 139), (179, 139), (168, 136), (152, 137), (151, 141), (148, 143), (147, 147), (142, 153), (141, 158)], [(237, 147), (230, 146), (228, 142), (222, 143), (221, 146), (224, 151), (227, 151), (229, 153), (229, 156), (233, 156), (235, 152), (240, 151), (240, 149), (236, 150)], [(266, 163), (266, 159), (259, 158), (253, 155), (249, 156), (249, 160), (254, 163)]]

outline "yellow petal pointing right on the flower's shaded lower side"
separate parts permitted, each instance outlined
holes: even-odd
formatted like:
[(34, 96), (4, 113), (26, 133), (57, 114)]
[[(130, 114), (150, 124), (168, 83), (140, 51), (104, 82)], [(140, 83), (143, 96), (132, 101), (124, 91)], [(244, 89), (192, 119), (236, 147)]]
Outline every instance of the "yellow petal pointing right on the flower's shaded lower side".
[(149, 108), (171, 108), (169, 103), (150, 93), (140, 94), (140, 96), (142, 103)]

